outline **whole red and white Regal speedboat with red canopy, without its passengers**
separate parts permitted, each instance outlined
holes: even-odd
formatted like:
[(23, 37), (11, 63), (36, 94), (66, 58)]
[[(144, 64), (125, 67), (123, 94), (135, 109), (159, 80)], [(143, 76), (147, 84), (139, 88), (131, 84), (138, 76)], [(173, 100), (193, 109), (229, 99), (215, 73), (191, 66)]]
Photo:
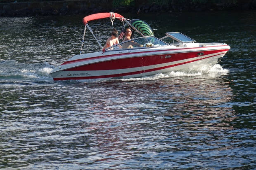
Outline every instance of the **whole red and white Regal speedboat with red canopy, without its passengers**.
[[(130, 41), (126, 41), (99, 52), (80, 53), (50, 72), (54, 80), (127, 79), (186, 68), (201, 68), (203, 66), (212, 68), (230, 49), (224, 43), (197, 43), (179, 32), (166, 33), (165, 37), (158, 39), (153, 34), (150, 35), (152, 31), (149, 30), (150, 27), (145, 22), (140, 20), (133, 22), (133, 20), (125, 19), (116, 13), (86, 16), (83, 19), (85, 30), (87, 27), (95, 37), (88, 26), (88, 21), (107, 17), (113, 20), (114, 16), (116, 19), (126, 22), (126, 27), (137, 31), (142, 36), (130, 41), (142, 44), (143, 47), (119, 48), (120, 46), (127, 47), (126, 43), (130, 43)], [(143, 28), (144, 30), (148, 29), (147, 33), (140, 29), (142, 26), (146, 27)], [(85, 30), (83, 37), (85, 37)], [(97, 40), (96, 37), (95, 39)], [(98, 40), (97, 42), (102, 47)]]

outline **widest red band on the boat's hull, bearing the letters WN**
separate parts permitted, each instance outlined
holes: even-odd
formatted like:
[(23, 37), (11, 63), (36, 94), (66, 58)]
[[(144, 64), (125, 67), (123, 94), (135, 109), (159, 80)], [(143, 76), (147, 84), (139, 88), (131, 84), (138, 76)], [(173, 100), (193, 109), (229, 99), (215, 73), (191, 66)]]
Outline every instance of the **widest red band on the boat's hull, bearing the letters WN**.
[[(209, 55), (209, 54), (214, 54), (214, 53), (219, 53), (224, 51), (228, 51), (228, 49), (213, 50), (213, 51), (199, 51), (199, 52), (204, 52), (204, 55)], [(149, 65), (157, 65), (157, 64), (185, 60), (189, 58), (195, 58), (195, 57), (198, 57), (197, 54), (199, 52), (197, 51), (197, 52), (190, 52), (190, 53), (121, 58), (121, 59), (116, 59), (111, 61), (103, 61), (99, 63), (82, 65), (76, 68), (67, 69), (65, 71), (116, 70), (116, 69), (145, 67)], [(171, 56), (171, 57), (165, 58), (166, 56)]]

